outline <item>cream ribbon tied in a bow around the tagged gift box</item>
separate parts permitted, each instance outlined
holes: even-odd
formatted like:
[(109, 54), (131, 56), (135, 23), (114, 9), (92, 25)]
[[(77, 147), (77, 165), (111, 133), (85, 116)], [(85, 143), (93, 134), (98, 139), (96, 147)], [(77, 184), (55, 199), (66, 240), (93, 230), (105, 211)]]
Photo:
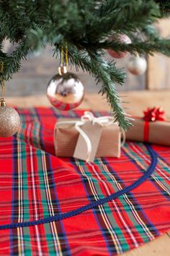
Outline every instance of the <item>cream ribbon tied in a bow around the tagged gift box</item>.
[[(81, 129), (81, 127), (86, 124), (86, 122), (91, 122), (92, 125), (99, 124), (101, 127), (107, 127), (109, 125), (112, 125), (115, 122), (115, 119), (113, 116), (99, 116), (95, 117), (94, 114), (92, 114), (90, 111), (85, 111), (84, 115), (81, 116), (80, 120), (68, 120), (68, 121), (58, 121), (55, 124), (55, 130), (62, 126), (63, 124), (74, 124), (75, 129), (79, 132), (79, 134), (84, 138), (84, 141), (86, 142), (86, 162), (89, 162), (89, 158), (91, 156), (92, 146), (91, 146), (91, 140), (89, 139), (88, 135)], [(125, 132), (122, 132), (122, 143), (121, 146), (125, 143)]]

